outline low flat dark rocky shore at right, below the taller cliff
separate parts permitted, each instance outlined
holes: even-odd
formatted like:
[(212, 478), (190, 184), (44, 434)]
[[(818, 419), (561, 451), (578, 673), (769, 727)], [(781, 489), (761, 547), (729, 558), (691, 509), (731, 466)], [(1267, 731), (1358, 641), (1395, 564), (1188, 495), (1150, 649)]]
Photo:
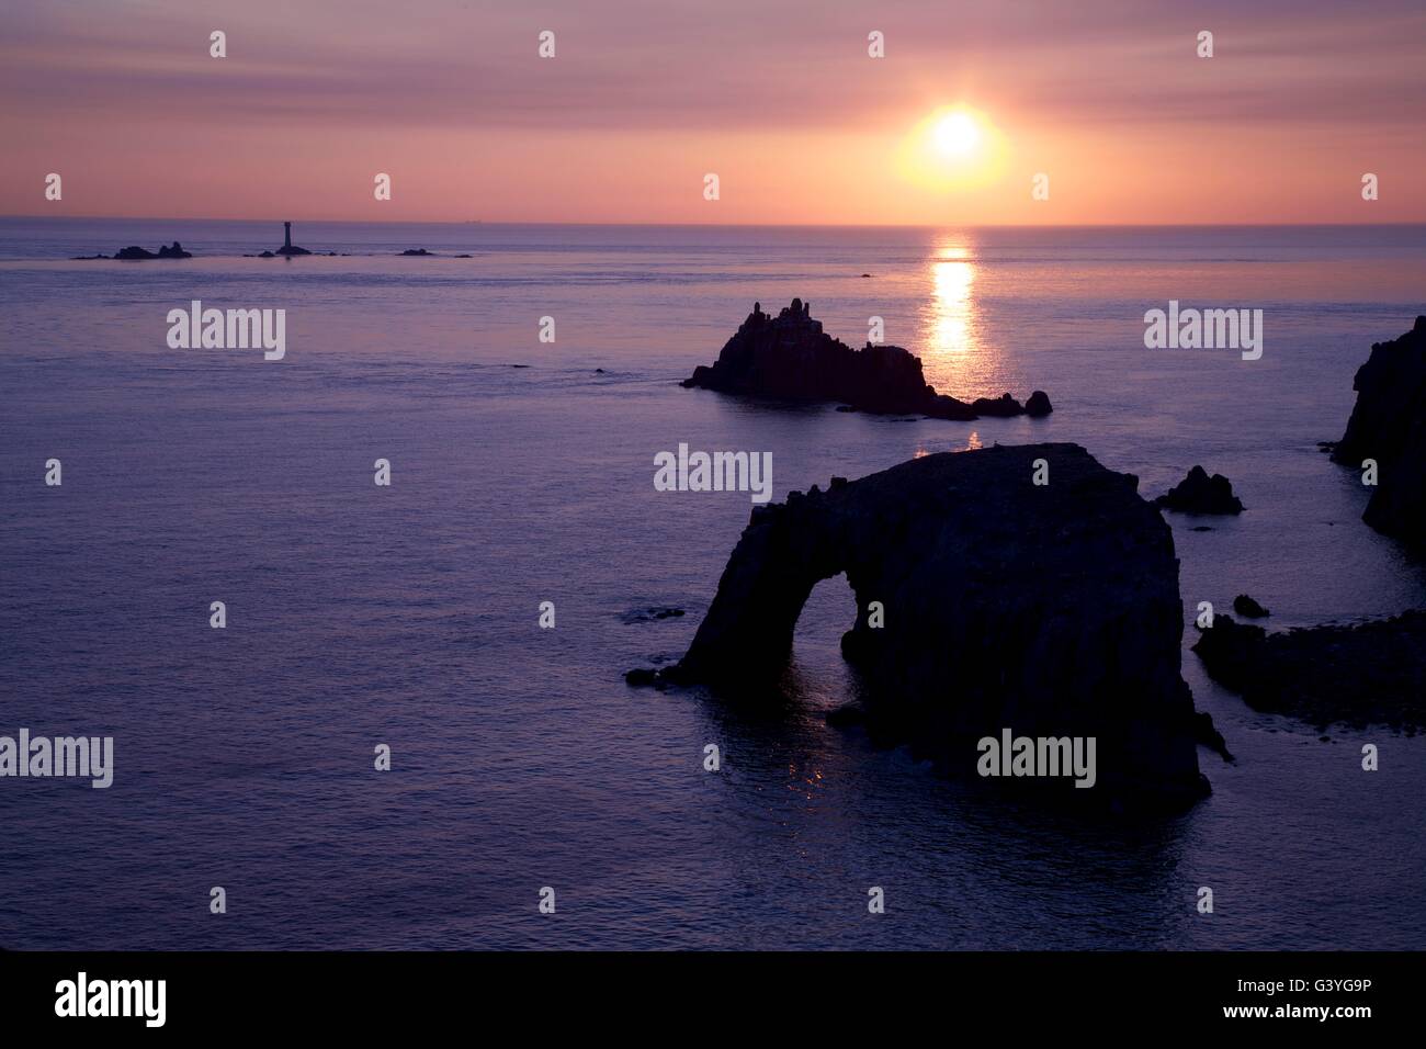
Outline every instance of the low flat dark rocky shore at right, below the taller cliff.
[(1214, 681), (1258, 711), (1319, 728), (1426, 726), (1426, 611), (1281, 634), (1215, 615), (1194, 652)]

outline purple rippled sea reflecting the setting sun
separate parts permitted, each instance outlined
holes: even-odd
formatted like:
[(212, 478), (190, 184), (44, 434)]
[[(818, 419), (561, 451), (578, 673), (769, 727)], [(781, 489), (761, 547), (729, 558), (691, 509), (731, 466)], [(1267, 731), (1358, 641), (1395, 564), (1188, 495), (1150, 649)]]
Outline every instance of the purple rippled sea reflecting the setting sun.
[[(298, 221), (338, 254), (244, 257), (281, 237), (0, 220), (0, 735), (114, 738), (108, 789), (0, 779), (0, 946), (1426, 946), (1426, 739), (1256, 714), (1188, 651), (1198, 602), (1239, 592), (1273, 629), (1426, 604), (1318, 450), (1370, 344), (1426, 313), (1426, 227)], [(70, 261), (173, 240), (195, 257)], [(881, 317), (941, 392), (1044, 390), (1054, 414), (677, 385), (793, 297), (853, 345)], [(193, 300), (285, 310), (285, 357), (171, 350)], [(1262, 358), (1147, 350), (1169, 300), (1261, 308)], [(781, 500), (1031, 441), (1148, 497), (1202, 464), (1248, 507), (1166, 515), (1184, 678), (1236, 758), (1199, 751), (1214, 794), (1188, 814), (1047, 812), (827, 726), (843, 578), (803, 612), (786, 706), (625, 685), (687, 647), (750, 511), (655, 491), (659, 451), (771, 452)], [(686, 615), (626, 622), (655, 605)]]

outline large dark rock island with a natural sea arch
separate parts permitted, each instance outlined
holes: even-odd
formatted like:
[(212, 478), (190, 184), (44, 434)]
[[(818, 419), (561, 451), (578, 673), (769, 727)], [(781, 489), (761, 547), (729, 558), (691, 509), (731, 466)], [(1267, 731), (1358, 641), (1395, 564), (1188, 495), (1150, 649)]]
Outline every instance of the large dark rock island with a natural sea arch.
[[(1050, 464), (1034, 485), (1035, 460)], [(683, 659), (630, 684), (776, 682), (803, 602), (846, 572), (858, 617), (843, 654), (868, 732), (975, 776), (977, 742), (1010, 728), (1095, 736), (1098, 786), (1119, 806), (1208, 792), (1168, 524), (1137, 480), (1074, 444), (940, 452), (753, 511)], [(870, 602), (884, 625), (868, 625)], [(1068, 788), (1070, 781), (1037, 781)]]

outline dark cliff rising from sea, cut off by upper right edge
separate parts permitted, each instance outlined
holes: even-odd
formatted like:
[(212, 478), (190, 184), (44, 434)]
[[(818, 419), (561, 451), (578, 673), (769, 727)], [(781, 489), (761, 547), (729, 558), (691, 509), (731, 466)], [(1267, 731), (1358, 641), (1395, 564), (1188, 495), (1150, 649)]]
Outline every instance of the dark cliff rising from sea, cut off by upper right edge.
[(1356, 405), (1332, 460), (1363, 470), (1378, 484), (1362, 520), (1385, 535), (1426, 544), (1426, 317), (1400, 338), (1375, 343), (1352, 382)]

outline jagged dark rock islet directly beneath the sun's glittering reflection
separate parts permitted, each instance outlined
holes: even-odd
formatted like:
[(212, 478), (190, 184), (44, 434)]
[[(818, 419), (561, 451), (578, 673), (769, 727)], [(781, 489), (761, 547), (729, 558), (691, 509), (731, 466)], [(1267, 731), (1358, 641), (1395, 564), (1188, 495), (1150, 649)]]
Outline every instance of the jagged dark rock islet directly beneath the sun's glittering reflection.
[(699, 365), (680, 384), (800, 401), (836, 401), (858, 411), (888, 415), (920, 412), (933, 418), (971, 421), (981, 415), (1047, 415), (1050, 398), (1031, 394), (1032, 410), (1010, 394), (974, 404), (935, 392), (921, 374), (915, 354), (898, 345), (867, 343), (853, 350), (827, 335), (811, 307), (794, 298), (777, 317), (753, 304), (737, 334), (712, 367)]

